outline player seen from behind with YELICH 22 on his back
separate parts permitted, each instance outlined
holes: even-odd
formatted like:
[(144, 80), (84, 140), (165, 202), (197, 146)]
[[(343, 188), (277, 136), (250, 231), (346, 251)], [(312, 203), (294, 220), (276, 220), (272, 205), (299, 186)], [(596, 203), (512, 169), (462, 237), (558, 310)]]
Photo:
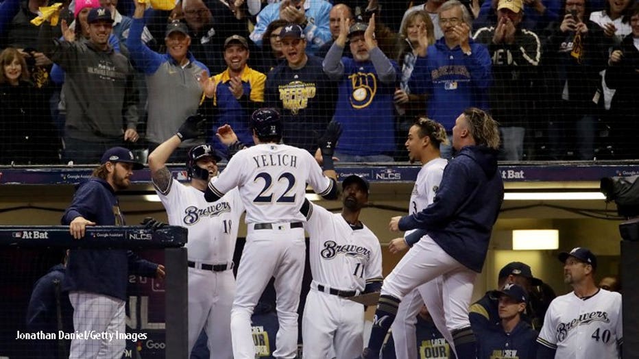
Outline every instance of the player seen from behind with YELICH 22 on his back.
[[(255, 146), (237, 152), (224, 172), (209, 182), (204, 195), (209, 202), (217, 201), (238, 187), (246, 208), (246, 245), (231, 311), (233, 354), (235, 359), (254, 359), (251, 314), (267, 282), (275, 277), (280, 328), (273, 356), (294, 358), (305, 255), (304, 216), (299, 209), (306, 183), (319, 195), (335, 199), (337, 175), (331, 156), (324, 156), (327, 171), (322, 174), (309, 151), (280, 144), (282, 122), (276, 110), (256, 110), (250, 127)], [(326, 141), (331, 149), (337, 137)]]

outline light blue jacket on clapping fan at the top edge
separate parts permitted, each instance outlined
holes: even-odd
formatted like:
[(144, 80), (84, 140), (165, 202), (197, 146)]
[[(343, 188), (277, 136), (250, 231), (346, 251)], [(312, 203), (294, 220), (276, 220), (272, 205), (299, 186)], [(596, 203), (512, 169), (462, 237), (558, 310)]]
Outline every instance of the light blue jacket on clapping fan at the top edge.
[[(257, 15), (257, 23), (251, 33), (251, 40), (256, 45), (262, 47), (262, 35), (266, 31), (269, 23), (280, 18), (280, 1), (270, 3)], [(328, 27), (328, 13), (333, 5), (324, 0), (307, 0), (304, 1), (304, 12), (309, 20), (309, 25), (304, 27), (304, 36), (306, 36), (306, 54), (314, 55), (315, 52), (328, 42), (333, 36), (330, 34)]]

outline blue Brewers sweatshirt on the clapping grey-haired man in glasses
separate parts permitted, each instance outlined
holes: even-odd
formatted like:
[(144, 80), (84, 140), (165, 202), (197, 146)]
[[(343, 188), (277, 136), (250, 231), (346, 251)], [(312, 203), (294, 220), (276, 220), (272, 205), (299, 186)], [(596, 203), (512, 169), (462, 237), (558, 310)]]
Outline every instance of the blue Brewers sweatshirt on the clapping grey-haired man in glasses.
[(488, 88), (492, 81), (490, 53), (484, 45), (470, 39), (471, 55), (457, 46), (448, 49), (440, 38), (427, 49), (426, 58), (418, 57), (409, 80), (415, 95), (429, 95), (426, 112), (452, 131), (457, 116), (469, 107), (488, 109)]

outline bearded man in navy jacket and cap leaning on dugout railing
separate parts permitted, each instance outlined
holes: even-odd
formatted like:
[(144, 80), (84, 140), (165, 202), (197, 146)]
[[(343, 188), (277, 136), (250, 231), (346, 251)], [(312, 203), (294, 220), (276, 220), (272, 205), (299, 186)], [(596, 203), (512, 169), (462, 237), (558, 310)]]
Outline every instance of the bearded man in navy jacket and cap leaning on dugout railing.
[[(86, 234), (87, 225), (125, 225), (116, 191), (128, 188), (133, 171), (143, 168), (133, 153), (123, 147), (104, 152), (92, 177), (78, 186), (71, 206), (62, 215), (75, 239)], [(165, 267), (138, 258), (125, 249), (71, 249), (62, 291), (69, 291), (75, 332), (124, 333), (126, 285), (129, 273), (165, 277)], [(121, 358), (121, 337), (71, 340), (70, 359)]]

